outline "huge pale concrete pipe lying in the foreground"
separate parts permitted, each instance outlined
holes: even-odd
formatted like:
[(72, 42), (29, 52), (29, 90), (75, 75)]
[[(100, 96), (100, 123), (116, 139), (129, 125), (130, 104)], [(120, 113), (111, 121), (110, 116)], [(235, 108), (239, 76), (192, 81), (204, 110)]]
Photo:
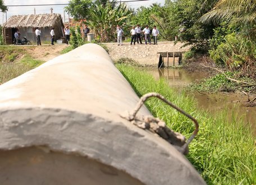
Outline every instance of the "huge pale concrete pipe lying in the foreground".
[(205, 184), (167, 141), (120, 117), (138, 101), (95, 44), (2, 84), (0, 184)]

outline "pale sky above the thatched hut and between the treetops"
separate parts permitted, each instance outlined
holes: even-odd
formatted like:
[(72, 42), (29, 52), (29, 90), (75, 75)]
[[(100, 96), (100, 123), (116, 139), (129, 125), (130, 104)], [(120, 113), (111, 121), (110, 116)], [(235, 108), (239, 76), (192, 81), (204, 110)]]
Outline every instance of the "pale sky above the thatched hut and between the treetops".
[[(119, 0), (118, 0), (119, 1)], [(121, 1), (129, 1), (129, 0), (121, 0)], [(130, 0), (132, 1), (132, 0)], [(44, 1), (35, 1), (35, 0), (4, 0), (5, 5), (20, 5), (20, 4), (60, 4), (60, 3), (68, 3), (68, 0), (44, 0)], [(149, 0), (149, 1), (140, 1), (140, 2), (128, 2), (127, 4), (131, 8), (138, 8), (140, 6), (148, 7), (153, 3), (160, 3), (161, 5), (164, 4), (164, 0)], [(0, 24), (2, 25), (3, 22), (6, 22), (10, 16), (13, 15), (29, 15), (35, 13), (51, 13), (51, 8), (53, 8), (53, 13), (60, 13), (63, 17), (63, 8), (65, 6), (28, 6), (28, 7), (8, 7), (7, 16), (6, 14), (0, 12)], [(65, 13), (66, 21), (68, 21), (67, 13)]]

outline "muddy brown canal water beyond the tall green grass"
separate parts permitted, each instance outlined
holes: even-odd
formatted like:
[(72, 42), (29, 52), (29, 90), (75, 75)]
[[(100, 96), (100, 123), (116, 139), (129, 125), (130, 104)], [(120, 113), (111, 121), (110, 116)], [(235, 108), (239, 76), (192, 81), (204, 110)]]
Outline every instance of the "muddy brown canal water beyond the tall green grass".
[[(156, 79), (166, 79), (170, 86), (177, 91), (182, 91), (189, 83), (206, 77), (206, 74), (203, 72), (189, 73), (184, 69), (150, 68), (145, 70)], [(227, 108), (227, 118), (229, 120), (236, 115), (237, 119), (242, 119), (246, 124), (249, 124), (256, 135), (256, 107), (246, 107), (243, 105), (247, 100), (245, 95), (237, 93), (200, 94), (197, 92), (189, 94), (195, 97), (199, 108), (207, 110), (212, 114)]]

